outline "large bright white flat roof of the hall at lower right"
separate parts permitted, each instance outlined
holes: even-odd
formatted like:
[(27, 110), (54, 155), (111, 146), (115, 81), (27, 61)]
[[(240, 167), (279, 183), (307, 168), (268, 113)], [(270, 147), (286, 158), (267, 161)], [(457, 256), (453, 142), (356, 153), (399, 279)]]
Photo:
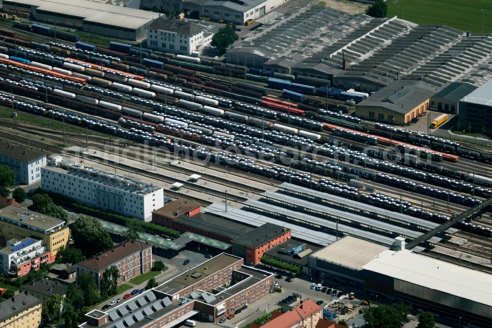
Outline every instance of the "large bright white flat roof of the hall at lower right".
[(431, 290), (492, 306), (492, 275), (409, 250), (386, 250), (362, 267)]

